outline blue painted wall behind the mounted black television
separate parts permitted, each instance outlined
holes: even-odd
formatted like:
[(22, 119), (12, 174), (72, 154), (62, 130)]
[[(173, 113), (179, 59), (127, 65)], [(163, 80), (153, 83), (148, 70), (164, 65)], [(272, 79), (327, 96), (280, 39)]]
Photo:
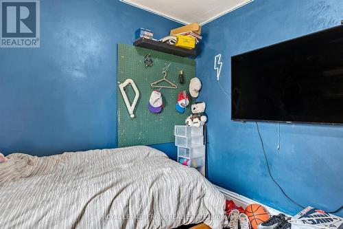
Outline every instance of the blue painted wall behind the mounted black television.
[[(288, 213), (300, 210), (270, 179), (255, 123), (230, 120), (230, 56), (330, 28), (341, 19), (341, 0), (255, 0), (202, 28), (197, 74), (204, 87), (198, 100), (206, 102), (209, 115), (211, 182)], [(219, 83), (213, 70), (217, 54), (224, 62)], [(272, 174), (290, 197), (324, 210), (343, 204), (343, 127), (281, 124), (277, 151), (277, 124), (259, 125)]]

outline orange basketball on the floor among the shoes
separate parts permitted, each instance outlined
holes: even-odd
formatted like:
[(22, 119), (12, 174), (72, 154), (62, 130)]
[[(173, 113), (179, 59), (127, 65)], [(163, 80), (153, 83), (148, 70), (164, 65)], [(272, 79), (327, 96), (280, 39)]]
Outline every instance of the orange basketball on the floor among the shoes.
[(257, 229), (257, 225), (269, 219), (268, 211), (259, 204), (248, 205), (244, 213), (248, 216), (253, 229)]

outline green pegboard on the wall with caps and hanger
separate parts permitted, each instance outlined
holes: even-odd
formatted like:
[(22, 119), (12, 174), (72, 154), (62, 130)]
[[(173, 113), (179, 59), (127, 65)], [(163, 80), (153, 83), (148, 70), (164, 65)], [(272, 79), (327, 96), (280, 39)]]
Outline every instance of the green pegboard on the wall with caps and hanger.
[[(146, 54), (151, 54), (154, 61), (152, 67), (145, 67), (144, 56)], [(157, 88), (152, 88), (150, 84), (163, 78), (162, 69), (167, 65), (169, 65), (167, 80), (177, 85), (178, 88), (161, 89), (163, 111), (151, 113), (147, 109), (147, 103), (151, 92)], [(189, 94), (189, 81), (196, 77), (196, 62), (185, 57), (119, 44), (117, 69), (118, 85), (127, 78), (131, 78), (140, 94), (134, 110), (135, 118), (130, 118), (123, 96), (117, 86), (119, 147), (174, 142), (174, 125), (185, 124), (185, 119), (191, 114), (192, 100), (185, 113), (178, 113), (175, 105), (180, 91), (186, 90)], [(182, 85), (178, 80), (178, 71), (181, 69), (185, 72), (185, 83)], [(132, 103), (134, 99), (132, 87), (126, 87), (126, 94)]]

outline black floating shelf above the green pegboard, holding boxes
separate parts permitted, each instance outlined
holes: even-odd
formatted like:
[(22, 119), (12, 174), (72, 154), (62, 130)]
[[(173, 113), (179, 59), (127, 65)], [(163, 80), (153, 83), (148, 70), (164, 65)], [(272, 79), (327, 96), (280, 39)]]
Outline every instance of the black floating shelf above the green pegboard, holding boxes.
[(158, 52), (165, 52), (165, 53), (173, 54), (176, 56), (183, 56), (183, 57), (196, 56), (196, 49), (187, 50), (182, 47), (168, 45), (167, 43), (154, 41), (152, 39), (145, 39), (143, 37), (134, 41), (133, 45), (137, 47), (144, 47), (149, 50), (155, 50)]

